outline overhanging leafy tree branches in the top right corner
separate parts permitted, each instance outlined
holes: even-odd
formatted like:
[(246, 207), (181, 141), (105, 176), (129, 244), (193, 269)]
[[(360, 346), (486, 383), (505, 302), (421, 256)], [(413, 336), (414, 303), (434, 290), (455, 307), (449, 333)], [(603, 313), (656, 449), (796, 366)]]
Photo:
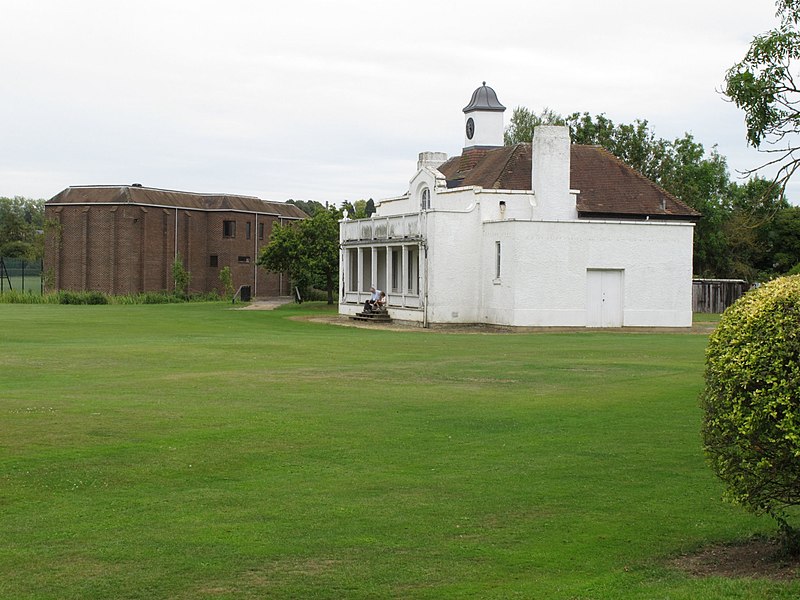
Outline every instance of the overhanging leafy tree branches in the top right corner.
[(792, 70), (800, 59), (800, 0), (778, 0), (780, 24), (750, 42), (745, 57), (725, 75), (725, 95), (744, 110), (747, 141), (770, 155), (753, 173), (777, 167), (781, 187), (800, 166), (800, 88)]

